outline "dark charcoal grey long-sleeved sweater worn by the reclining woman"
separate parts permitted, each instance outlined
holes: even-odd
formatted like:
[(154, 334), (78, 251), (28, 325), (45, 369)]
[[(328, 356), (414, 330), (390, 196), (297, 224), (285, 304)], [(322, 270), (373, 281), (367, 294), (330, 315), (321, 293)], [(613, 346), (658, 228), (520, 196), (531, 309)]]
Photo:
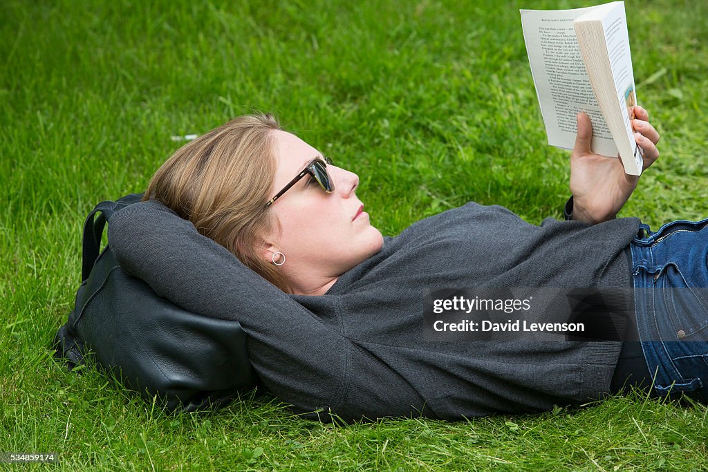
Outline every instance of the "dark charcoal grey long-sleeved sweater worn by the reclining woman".
[(423, 290), (629, 287), (639, 220), (527, 224), (470, 202), (384, 238), (321, 297), (285, 294), (155, 201), (110, 221), (118, 262), (185, 309), (236, 319), (265, 387), (299, 413), (460, 419), (548, 410), (608, 391), (619, 342), (423, 339)]

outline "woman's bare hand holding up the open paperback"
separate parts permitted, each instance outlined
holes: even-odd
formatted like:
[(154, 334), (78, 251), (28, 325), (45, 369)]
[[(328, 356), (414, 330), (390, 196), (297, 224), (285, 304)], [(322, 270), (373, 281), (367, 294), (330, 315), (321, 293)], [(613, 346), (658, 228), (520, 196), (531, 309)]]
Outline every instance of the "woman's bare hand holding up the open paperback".
[[(659, 134), (649, 123), (649, 113), (634, 107), (632, 120), (636, 144), (644, 151), (642, 171), (658, 159)], [(639, 182), (639, 175), (624, 173), (622, 160), (600, 156), (590, 150), (593, 125), (585, 113), (578, 115), (578, 134), (571, 154), (573, 219), (595, 224), (615, 218)]]

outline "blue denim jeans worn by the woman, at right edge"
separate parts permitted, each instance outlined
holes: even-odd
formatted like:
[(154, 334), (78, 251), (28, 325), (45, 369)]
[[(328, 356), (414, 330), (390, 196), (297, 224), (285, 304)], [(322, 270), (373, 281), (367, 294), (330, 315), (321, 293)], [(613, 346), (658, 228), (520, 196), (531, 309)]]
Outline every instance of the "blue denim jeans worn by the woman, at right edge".
[(653, 388), (708, 401), (708, 219), (641, 224), (629, 245), (636, 326)]

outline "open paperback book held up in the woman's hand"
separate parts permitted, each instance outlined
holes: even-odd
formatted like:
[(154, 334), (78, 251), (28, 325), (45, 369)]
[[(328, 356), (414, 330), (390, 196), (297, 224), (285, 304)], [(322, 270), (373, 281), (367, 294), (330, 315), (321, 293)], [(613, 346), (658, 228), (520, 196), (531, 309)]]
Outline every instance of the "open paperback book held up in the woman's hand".
[(572, 149), (576, 115), (593, 122), (592, 149), (619, 153), (628, 174), (639, 175), (641, 150), (634, 140), (636, 105), (624, 2), (574, 10), (521, 10), (548, 144)]

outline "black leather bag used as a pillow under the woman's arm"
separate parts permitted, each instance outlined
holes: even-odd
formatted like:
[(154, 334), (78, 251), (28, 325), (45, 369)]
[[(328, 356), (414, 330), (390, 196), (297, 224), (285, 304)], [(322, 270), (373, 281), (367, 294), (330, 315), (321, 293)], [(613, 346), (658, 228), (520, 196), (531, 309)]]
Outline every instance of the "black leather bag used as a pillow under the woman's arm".
[(146, 401), (157, 396), (170, 411), (225, 405), (256, 386), (241, 325), (158, 297), (122, 270), (110, 241), (99, 255), (105, 223), (141, 197), (101, 202), (86, 218), (82, 282), (69, 321), (56, 335), (56, 356), (72, 369), (91, 352), (100, 367)]

